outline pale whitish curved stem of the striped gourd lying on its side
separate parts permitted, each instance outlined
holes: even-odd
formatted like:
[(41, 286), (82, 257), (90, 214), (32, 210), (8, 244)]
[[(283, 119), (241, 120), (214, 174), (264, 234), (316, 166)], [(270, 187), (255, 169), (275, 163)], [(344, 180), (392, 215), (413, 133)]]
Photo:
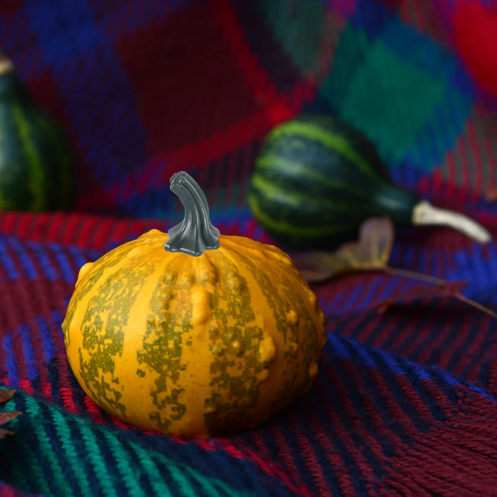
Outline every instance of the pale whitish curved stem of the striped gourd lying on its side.
[(449, 226), (480, 244), (488, 244), (492, 240), (492, 235), (481, 224), (468, 216), (447, 209), (439, 209), (426, 200), (421, 200), (414, 207), (412, 222), (415, 226)]

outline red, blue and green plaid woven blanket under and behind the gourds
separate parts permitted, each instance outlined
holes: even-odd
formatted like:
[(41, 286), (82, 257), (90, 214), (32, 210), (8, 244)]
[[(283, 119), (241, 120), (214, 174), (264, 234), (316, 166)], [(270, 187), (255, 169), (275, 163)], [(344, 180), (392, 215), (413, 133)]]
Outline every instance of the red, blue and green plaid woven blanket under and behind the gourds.
[[(174, 171), (197, 179), (221, 232), (268, 242), (247, 178), (265, 133), (303, 109), (346, 119), (395, 181), (497, 236), (485, 200), (496, 6), (1, 0), (0, 47), (68, 130), (80, 180), (71, 214), (0, 214), (0, 378), (19, 389), (0, 409), (25, 413), (0, 441), (0, 496), (497, 495), (497, 322), (451, 299), (368, 308), (408, 292), (405, 278), (316, 286), (329, 343), (312, 390), (255, 429), (206, 441), (105, 414), (70, 371), (61, 331), (84, 262), (180, 221)], [(496, 243), (406, 230), (391, 264), (467, 280), (464, 294), (497, 310)]]

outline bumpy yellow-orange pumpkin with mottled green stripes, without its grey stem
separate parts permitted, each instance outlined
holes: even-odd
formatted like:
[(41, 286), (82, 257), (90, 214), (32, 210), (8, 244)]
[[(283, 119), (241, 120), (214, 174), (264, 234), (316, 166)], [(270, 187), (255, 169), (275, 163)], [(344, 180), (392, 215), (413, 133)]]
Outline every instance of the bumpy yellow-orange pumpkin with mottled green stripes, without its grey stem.
[(304, 394), (327, 334), (289, 256), (244, 237), (199, 257), (166, 241), (152, 230), (81, 268), (62, 328), (88, 396), (136, 426), (205, 438)]

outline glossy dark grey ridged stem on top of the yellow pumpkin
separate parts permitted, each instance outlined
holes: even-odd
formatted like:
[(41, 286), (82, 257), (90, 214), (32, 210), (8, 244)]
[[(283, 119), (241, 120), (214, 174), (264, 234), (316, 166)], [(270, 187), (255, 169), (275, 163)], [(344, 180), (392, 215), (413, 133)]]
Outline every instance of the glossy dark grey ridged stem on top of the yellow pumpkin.
[(170, 190), (181, 200), (185, 217), (167, 232), (165, 250), (198, 257), (205, 250), (219, 248), (220, 233), (211, 224), (209, 205), (198, 183), (185, 171), (179, 171), (171, 176)]

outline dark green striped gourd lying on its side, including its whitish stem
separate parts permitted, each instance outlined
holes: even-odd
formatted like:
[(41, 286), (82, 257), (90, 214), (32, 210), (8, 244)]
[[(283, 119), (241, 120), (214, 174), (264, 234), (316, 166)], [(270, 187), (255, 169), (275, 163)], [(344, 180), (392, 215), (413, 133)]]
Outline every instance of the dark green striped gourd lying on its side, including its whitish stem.
[(491, 240), (468, 217), (395, 186), (375, 146), (329, 116), (302, 115), (267, 135), (248, 204), (275, 240), (294, 248), (354, 239), (361, 223), (377, 216), (389, 216), (396, 226), (443, 224), (480, 243)]

